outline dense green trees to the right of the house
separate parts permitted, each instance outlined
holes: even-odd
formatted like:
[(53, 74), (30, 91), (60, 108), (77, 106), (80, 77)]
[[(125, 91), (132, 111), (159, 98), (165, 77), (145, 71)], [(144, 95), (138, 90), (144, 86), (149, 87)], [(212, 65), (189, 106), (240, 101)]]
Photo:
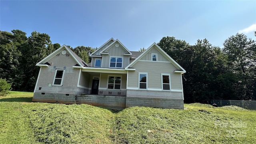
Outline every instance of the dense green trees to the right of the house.
[(158, 45), (186, 70), (185, 102), (256, 99), (256, 44), (245, 35), (230, 37), (223, 50), (206, 39), (189, 45), (170, 36), (162, 38)]

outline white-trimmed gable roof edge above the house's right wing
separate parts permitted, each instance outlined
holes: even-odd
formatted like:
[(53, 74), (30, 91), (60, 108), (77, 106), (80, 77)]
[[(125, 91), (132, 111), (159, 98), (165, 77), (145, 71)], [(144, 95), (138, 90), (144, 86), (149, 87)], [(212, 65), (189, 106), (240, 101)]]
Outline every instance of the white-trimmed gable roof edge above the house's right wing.
[(134, 70), (134, 68), (130, 68), (131, 66), (133, 66), (134, 64), (136, 64), (136, 62), (138, 62), (143, 56), (145, 56), (149, 50), (151, 50), (153, 47), (156, 47), (158, 49), (159, 52), (161, 52), (174, 66), (176, 66), (177, 68), (179, 68), (180, 70), (175, 70), (174, 72), (179, 72), (184, 74), (186, 72), (186, 70), (184, 70), (184, 68), (182, 68), (174, 59), (172, 59), (166, 52), (164, 52), (164, 50), (162, 50), (162, 48), (160, 48), (155, 42), (149, 47), (147, 48), (142, 54), (140, 54), (140, 56), (138, 56), (138, 58), (136, 58), (133, 62), (131, 62), (128, 66), (126, 66), (125, 70)]

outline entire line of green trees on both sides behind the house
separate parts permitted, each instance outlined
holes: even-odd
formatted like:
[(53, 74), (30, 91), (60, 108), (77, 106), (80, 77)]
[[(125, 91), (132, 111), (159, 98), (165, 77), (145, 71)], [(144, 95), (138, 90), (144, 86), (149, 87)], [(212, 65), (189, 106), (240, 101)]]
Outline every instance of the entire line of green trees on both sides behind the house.
[[(220, 48), (207, 39), (190, 45), (166, 36), (158, 45), (186, 70), (182, 78), (184, 102), (256, 100), (255, 40), (236, 34)], [(52, 44), (48, 34), (35, 31), (27, 37), (21, 30), (0, 31), (0, 77), (11, 84), (12, 90), (33, 91), (39, 72), (36, 63), (59, 47)], [(70, 48), (85, 62), (90, 62), (89, 55), (96, 50), (88, 46)]]

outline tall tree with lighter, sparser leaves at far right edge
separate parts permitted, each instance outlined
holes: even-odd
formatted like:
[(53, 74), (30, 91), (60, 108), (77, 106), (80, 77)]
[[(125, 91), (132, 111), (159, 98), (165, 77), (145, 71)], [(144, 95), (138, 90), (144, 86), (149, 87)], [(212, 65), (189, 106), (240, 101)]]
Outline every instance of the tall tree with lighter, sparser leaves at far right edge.
[(230, 36), (224, 42), (223, 52), (228, 58), (228, 67), (236, 74), (236, 90), (241, 100), (255, 100), (256, 43), (244, 34)]

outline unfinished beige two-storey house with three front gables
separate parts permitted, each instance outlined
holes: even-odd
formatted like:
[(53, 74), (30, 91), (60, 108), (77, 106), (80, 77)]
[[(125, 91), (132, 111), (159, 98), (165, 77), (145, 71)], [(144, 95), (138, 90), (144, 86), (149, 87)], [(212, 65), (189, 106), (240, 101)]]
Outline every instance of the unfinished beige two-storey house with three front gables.
[(111, 38), (90, 57), (87, 64), (63, 45), (38, 62), (32, 101), (184, 109), (186, 71), (156, 43), (144, 52), (133, 52)]

